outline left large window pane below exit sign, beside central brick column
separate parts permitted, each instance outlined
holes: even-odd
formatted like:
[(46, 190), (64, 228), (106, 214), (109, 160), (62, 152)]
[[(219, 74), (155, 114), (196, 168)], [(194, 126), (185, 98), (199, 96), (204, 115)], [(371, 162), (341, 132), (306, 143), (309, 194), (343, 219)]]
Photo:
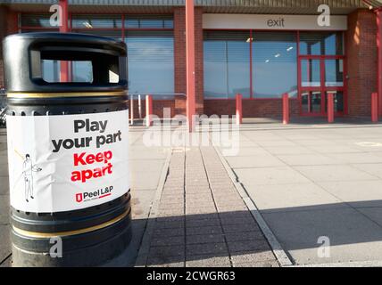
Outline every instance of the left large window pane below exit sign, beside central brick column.
[(204, 96), (250, 97), (249, 32), (205, 32)]

